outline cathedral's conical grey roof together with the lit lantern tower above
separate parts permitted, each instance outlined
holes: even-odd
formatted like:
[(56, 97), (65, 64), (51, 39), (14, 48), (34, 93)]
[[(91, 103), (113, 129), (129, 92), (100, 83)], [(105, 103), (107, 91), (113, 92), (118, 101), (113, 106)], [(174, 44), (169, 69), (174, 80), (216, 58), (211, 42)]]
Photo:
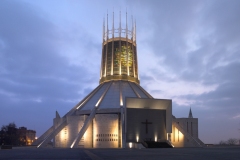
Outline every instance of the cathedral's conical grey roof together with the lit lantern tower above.
[(120, 20), (119, 28), (115, 28), (113, 22), (109, 29), (107, 16), (106, 26), (105, 22), (103, 24), (100, 85), (75, 107), (78, 114), (93, 107), (98, 110), (119, 109), (125, 106), (126, 97), (152, 98), (139, 85), (136, 23), (132, 21), (128, 27), (127, 22), (126, 15), (126, 28), (121, 27)]

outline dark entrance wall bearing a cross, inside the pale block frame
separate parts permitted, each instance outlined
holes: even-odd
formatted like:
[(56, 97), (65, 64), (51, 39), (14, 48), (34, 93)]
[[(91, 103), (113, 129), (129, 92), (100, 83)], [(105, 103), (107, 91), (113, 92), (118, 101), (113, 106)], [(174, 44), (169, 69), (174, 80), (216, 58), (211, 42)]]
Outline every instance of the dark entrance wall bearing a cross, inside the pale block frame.
[(126, 140), (144, 142), (166, 139), (165, 119), (165, 110), (128, 108)]

